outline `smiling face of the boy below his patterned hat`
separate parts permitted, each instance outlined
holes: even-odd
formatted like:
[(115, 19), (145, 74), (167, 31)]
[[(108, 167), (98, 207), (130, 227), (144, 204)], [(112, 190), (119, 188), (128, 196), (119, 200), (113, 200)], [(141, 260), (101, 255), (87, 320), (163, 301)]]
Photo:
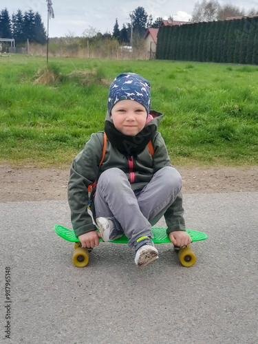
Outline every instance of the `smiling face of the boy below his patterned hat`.
[(110, 118), (118, 131), (128, 136), (136, 136), (144, 128), (147, 110), (136, 100), (120, 100), (111, 109)]

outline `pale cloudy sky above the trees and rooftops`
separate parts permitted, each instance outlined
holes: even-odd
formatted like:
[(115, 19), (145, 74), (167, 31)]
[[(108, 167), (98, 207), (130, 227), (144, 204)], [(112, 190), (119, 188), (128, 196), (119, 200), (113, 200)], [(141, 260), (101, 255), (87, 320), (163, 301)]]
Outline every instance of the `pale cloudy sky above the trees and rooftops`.
[[(157, 17), (167, 19), (172, 15), (174, 20), (188, 21), (193, 12), (195, 0), (52, 0), (55, 18), (50, 21), (50, 37), (74, 34), (81, 36), (89, 27), (98, 31), (110, 32), (114, 30), (116, 18), (119, 28), (128, 23), (129, 12), (142, 6), (153, 20)], [(233, 3), (244, 10), (258, 9), (258, 1), (253, 0), (219, 0), (220, 4)], [(0, 10), (8, 9), (9, 14), (18, 9), (39, 12), (47, 28), (46, 0), (0, 0)]]

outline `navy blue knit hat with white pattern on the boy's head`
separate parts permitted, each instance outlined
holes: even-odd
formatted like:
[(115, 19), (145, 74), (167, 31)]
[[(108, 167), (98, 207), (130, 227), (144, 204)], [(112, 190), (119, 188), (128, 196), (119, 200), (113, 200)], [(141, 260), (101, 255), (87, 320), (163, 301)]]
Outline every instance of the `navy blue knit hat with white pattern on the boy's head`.
[(119, 74), (109, 87), (109, 97), (107, 101), (107, 109), (109, 116), (111, 109), (120, 100), (136, 100), (142, 104), (147, 110), (147, 115), (151, 110), (151, 84), (148, 80), (142, 78), (135, 73)]

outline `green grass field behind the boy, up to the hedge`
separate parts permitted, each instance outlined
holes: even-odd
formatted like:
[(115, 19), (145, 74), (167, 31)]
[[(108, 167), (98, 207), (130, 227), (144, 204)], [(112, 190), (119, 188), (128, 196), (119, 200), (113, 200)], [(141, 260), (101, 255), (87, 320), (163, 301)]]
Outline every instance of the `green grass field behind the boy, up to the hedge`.
[(258, 67), (0, 56), (0, 162), (68, 166), (103, 130), (111, 81), (151, 82), (175, 165), (258, 164)]

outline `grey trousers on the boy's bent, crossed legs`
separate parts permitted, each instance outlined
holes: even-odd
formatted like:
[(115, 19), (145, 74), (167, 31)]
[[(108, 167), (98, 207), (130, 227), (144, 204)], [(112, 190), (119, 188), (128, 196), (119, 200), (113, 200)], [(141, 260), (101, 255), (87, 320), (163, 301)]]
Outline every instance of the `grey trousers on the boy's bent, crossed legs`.
[(113, 219), (129, 239), (129, 246), (139, 237), (152, 237), (151, 226), (175, 201), (182, 188), (180, 173), (170, 166), (163, 167), (142, 190), (133, 192), (127, 175), (117, 168), (100, 175), (94, 208), (96, 218)]

